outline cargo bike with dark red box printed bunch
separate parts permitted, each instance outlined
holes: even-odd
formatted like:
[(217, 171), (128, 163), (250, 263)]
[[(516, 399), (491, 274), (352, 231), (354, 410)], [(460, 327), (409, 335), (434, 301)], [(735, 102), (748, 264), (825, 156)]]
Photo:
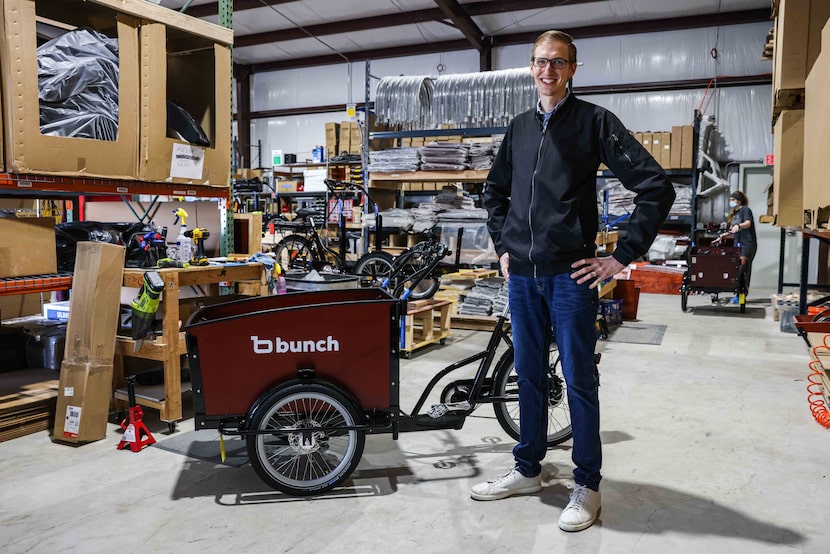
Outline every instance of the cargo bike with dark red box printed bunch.
[[(259, 477), (296, 496), (344, 482), (367, 434), (397, 439), (403, 432), (457, 430), (492, 404), (498, 422), (518, 439), (507, 310), (486, 349), (437, 371), (408, 413), (400, 405), (405, 314), (406, 303), (380, 288), (290, 292), (202, 308), (186, 325), (195, 428), (243, 437)], [(433, 395), (440, 403), (425, 407), (439, 383), (475, 362), (472, 378), (449, 382)], [(548, 375), (553, 446), (571, 437), (555, 346)]]

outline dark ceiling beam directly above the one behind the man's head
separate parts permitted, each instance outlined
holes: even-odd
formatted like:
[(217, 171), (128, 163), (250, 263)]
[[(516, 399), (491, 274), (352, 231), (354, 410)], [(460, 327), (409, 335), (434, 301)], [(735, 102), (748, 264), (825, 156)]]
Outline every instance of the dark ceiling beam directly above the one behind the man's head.
[[(605, 0), (570, 0), (567, 2), (567, 4), (587, 4), (600, 1)], [(239, 2), (240, 0), (234, 1), (234, 10), (237, 9), (236, 5)], [(438, 2), (438, 0), (436, 0), (436, 2)], [(519, 10), (547, 9), (551, 8), (550, 4), (550, 0), (517, 0), (513, 2), (473, 2), (471, 4), (464, 4), (463, 10), (467, 14), (469, 14), (469, 16), (474, 16), (487, 15), (491, 13), (513, 12)], [(209, 5), (212, 4), (201, 4), (200, 6), (196, 7)], [(260, 4), (259, 6), (261, 7), (262, 4)], [(188, 13), (190, 13), (190, 11), (188, 11)], [(334, 23), (306, 25), (304, 26), (305, 31), (303, 31), (302, 29), (298, 29), (296, 27), (289, 27), (286, 29), (277, 29), (274, 31), (265, 31), (262, 33), (252, 33), (249, 35), (235, 35), (234, 46), (255, 46), (257, 44), (271, 44), (274, 42), (297, 40), (308, 38), (309, 34), (315, 37), (323, 37), (326, 35), (337, 35), (341, 33), (354, 33), (359, 31), (372, 31), (374, 29), (386, 29), (388, 27), (396, 27), (400, 25), (415, 25), (418, 23), (444, 22), (444, 20), (447, 17), (448, 16), (440, 8), (428, 8), (423, 10), (413, 10), (410, 12), (392, 12), (374, 17), (361, 17), (358, 19), (346, 19)], [(456, 26), (458, 26), (457, 23)], [(461, 28), (459, 27), (459, 29)], [(478, 32), (481, 33), (480, 30)], [(480, 34), (479, 36), (483, 35)], [(476, 49), (478, 50), (477, 47)]]

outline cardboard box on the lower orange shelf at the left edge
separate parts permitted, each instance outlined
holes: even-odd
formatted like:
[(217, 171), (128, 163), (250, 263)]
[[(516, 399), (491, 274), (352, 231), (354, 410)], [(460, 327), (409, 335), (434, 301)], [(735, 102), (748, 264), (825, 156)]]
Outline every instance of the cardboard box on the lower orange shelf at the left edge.
[(55, 219), (0, 217), (0, 278), (55, 273)]

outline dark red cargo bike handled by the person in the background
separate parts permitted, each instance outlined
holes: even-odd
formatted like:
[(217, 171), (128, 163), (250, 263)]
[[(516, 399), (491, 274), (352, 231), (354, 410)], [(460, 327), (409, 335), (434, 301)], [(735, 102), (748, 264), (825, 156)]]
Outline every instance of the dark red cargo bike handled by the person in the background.
[(689, 295), (694, 292), (711, 294), (713, 302), (720, 293), (734, 294), (741, 313), (746, 312), (747, 278), (737, 245), (714, 242), (692, 245), (688, 267), (680, 284), (680, 307), (684, 312), (688, 309)]

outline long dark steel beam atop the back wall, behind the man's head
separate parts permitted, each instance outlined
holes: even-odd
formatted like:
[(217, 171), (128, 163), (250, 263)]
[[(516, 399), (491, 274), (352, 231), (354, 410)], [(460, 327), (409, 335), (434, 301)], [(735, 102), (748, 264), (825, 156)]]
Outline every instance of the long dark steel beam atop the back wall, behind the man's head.
[[(494, 4), (501, 4), (501, 2), (494, 2)], [(469, 4), (467, 4), (469, 5)], [(591, 25), (588, 27), (575, 27), (572, 29), (562, 29), (574, 38), (595, 38), (602, 36), (620, 36), (631, 35), (638, 33), (650, 33), (657, 31), (677, 31), (682, 29), (697, 29), (701, 27), (712, 27), (716, 24), (723, 25), (738, 25), (742, 23), (756, 23), (759, 21), (769, 21), (770, 10), (768, 8), (758, 10), (744, 10), (739, 12), (726, 12), (721, 14), (707, 14), (695, 15), (687, 17), (676, 17), (658, 19), (653, 21), (633, 21), (626, 23), (613, 23), (610, 25)], [(541, 33), (547, 31), (547, 28), (538, 31), (531, 31), (527, 33), (517, 33), (510, 35), (496, 35), (492, 37), (493, 47), (507, 46), (512, 44), (527, 44), (528, 46), (536, 40)], [(239, 39), (234, 39), (234, 45), (239, 47)], [(418, 54), (433, 54), (438, 52), (457, 52), (459, 50), (469, 49), (470, 44), (467, 40), (452, 40), (444, 42), (431, 42), (427, 44), (413, 44), (398, 46), (394, 48), (379, 48), (374, 50), (361, 50), (355, 52), (344, 52), (343, 55), (327, 54), (322, 56), (312, 56), (308, 58), (292, 58), (290, 60), (280, 60), (273, 62), (255, 63), (252, 64), (252, 71), (261, 73), (264, 71), (278, 71), (283, 69), (297, 69), (302, 67), (314, 67), (318, 65), (330, 65), (343, 63), (343, 56), (351, 62), (361, 62), (366, 60), (381, 60), (389, 58), (400, 58), (406, 56), (413, 56)]]

